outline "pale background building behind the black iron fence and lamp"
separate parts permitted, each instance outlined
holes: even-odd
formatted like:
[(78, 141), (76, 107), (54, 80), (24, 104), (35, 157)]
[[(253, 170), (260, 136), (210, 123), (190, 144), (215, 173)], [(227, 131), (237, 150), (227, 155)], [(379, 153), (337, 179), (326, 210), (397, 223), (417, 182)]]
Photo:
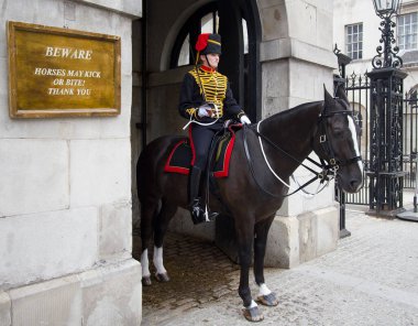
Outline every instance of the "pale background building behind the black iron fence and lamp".
[[(345, 67), (349, 87), (361, 87), (369, 83), (367, 72), (373, 70), (372, 61), (377, 55), (376, 47), (383, 44), (380, 42), (382, 37), (381, 19), (376, 15), (373, 1), (361, 0), (334, 0), (333, 1), (333, 33), (334, 42), (339, 50), (350, 56), (352, 62)], [(404, 0), (400, 3), (397, 15), (393, 17), (396, 23), (394, 30), (395, 44), (399, 52), (397, 55), (403, 61), (402, 72), (407, 73), (404, 79), (404, 98), (403, 111), (404, 126), (404, 153), (414, 154), (417, 152), (416, 141), (416, 98), (418, 88), (418, 1)], [(361, 78), (361, 79), (359, 79)], [(370, 85), (370, 84), (369, 84)], [(352, 91), (351, 105), (358, 112), (363, 129), (362, 138), (362, 156), (369, 159), (369, 145), (366, 138), (370, 130), (369, 123), (369, 100), (370, 97), (365, 91)], [(404, 157), (404, 161), (406, 159)], [(416, 167), (411, 166), (410, 160), (404, 162), (404, 171), (408, 173), (408, 177), (414, 178)], [(410, 174), (410, 176), (409, 176)]]

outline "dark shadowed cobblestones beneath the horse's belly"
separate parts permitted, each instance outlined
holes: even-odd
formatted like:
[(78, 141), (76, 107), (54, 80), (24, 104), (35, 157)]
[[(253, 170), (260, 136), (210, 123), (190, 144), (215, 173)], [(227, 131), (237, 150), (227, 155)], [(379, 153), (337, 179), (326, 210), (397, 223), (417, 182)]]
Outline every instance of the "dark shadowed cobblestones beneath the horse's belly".
[[(152, 261), (152, 252), (150, 261)], [(133, 237), (133, 257), (141, 258), (141, 238)], [(150, 263), (151, 273), (155, 270)], [(239, 265), (213, 242), (168, 232), (164, 244), (164, 265), (170, 281), (143, 287), (143, 316), (161, 308), (198, 307), (233, 293), (238, 295)]]

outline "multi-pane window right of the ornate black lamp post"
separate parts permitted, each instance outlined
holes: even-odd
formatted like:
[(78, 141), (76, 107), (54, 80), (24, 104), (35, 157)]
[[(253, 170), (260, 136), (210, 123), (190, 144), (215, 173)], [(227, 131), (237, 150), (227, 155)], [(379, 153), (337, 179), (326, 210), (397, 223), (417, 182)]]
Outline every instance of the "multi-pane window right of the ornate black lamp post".
[(399, 50), (418, 48), (418, 12), (399, 15), (397, 28), (397, 44)]

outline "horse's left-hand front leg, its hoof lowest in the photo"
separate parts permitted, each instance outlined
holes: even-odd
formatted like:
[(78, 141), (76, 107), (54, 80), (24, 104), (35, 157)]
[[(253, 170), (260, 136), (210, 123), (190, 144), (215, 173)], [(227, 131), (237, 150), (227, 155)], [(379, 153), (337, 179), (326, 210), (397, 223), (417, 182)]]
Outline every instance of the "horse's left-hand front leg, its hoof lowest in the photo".
[(251, 222), (235, 222), (237, 239), (239, 244), (239, 258), (240, 258), (240, 286), (238, 293), (240, 294), (244, 304), (243, 314), (250, 322), (263, 320), (263, 315), (258, 309), (257, 304), (251, 296), (251, 290), (249, 285), (254, 226)]

